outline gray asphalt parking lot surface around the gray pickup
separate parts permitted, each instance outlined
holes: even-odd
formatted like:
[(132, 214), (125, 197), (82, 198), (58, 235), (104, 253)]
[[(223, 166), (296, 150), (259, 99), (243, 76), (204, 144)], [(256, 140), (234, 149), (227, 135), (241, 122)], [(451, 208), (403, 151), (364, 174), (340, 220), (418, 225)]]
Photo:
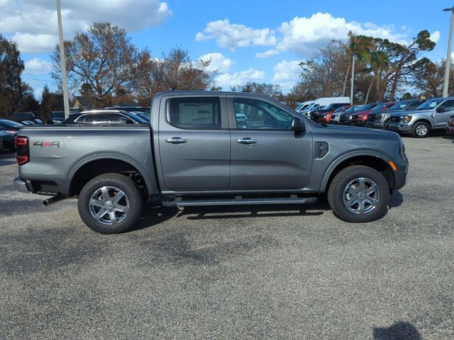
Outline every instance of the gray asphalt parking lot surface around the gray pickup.
[(13, 191), (0, 154), (0, 339), (454, 339), (454, 139), (404, 141), (382, 220), (153, 202), (116, 235)]

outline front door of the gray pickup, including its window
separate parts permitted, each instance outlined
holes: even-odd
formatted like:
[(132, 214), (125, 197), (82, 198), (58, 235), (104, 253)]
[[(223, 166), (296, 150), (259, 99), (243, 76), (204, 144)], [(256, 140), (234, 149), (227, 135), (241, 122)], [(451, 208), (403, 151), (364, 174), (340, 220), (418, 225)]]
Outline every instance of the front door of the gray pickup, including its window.
[(231, 190), (299, 189), (309, 183), (312, 137), (307, 129), (295, 134), (292, 113), (240, 96), (229, 98), (228, 108), (231, 125), (236, 122), (231, 129)]

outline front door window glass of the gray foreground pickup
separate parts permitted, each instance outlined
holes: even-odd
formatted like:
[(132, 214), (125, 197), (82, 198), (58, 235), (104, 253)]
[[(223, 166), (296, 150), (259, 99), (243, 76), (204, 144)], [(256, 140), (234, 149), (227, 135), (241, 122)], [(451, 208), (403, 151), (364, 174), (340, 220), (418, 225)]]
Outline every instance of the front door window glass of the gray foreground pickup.
[(292, 130), (294, 116), (265, 101), (234, 98), (236, 125), (248, 130)]

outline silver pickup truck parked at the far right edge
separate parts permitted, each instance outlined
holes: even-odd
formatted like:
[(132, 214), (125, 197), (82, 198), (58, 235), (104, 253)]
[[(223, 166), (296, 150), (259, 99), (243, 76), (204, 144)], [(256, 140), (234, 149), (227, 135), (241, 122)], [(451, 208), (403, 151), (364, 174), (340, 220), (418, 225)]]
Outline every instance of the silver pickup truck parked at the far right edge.
[(427, 137), (431, 130), (444, 130), (453, 115), (454, 97), (433, 98), (416, 110), (397, 111), (390, 118), (388, 130), (416, 138)]

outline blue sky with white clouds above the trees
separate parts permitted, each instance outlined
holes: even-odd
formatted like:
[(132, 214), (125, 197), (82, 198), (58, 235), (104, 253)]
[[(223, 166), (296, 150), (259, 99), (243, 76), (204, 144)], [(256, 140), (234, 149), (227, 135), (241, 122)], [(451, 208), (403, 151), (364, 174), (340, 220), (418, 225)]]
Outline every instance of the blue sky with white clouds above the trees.
[[(182, 47), (192, 60), (211, 58), (216, 85), (247, 81), (279, 84), (284, 93), (299, 80), (299, 63), (331, 40), (353, 33), (406, 43), (428, 30), (436, 47), (423, 56), (446, 56), (454, 1), (306, 0), (60, 0), (63, 34), (109, 21), (125, 28), (137, 47), (160, 57)], [(50, 52), (58, 42), (55, 0), (0, 0), (0, 34), (14, 40), (25, 62), (22, 78), (39, 99), (50, 78)]]

